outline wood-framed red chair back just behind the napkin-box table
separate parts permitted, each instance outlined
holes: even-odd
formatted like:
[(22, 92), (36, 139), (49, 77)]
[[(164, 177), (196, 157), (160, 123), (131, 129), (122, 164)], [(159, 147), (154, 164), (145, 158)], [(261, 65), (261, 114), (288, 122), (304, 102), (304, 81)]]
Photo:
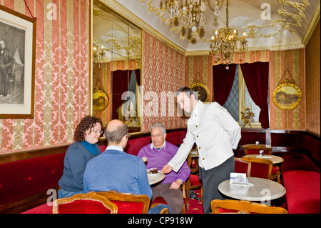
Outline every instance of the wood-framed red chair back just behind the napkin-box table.
[(273, 167), (272, 161), (257, 157), (243, 157), (242, 159), (251, 163), (250, 177), (271, 179)]

